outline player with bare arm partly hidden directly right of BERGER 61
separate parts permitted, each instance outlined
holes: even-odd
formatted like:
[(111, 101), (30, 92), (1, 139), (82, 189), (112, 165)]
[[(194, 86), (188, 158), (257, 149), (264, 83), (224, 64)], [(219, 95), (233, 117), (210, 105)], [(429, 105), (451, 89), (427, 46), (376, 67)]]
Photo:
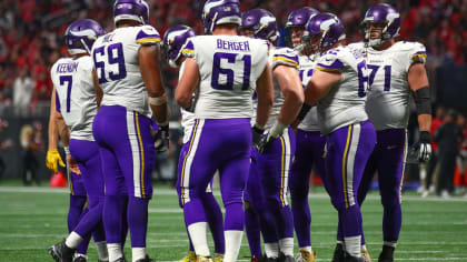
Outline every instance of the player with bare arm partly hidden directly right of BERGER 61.
[[(262, 234), (268, 259), (295, 261), (294, 259), (294, 221), (287, 202), (288, 178), (295, 154), (295, 134), (288, 125), (296, 119), (304, 101), (304, 91), (298, 75), (298, 56), (289, 48), (275, 48), (279, 38), (276, 18), (267, 10), (252, 9), (244, 13), (241, 30), (245, 36), (264, 39), (269, 42), (269, 63), (275, 80), (275, 100), (272, 111), (266, 124), (268, 134), (262, 138), (258, 151), (252, 153), (250, 180), (259, 179), (262, 188), (265, 208), (257, 204), (257, 182), (247, 187), (250, 206), (260, 213), (269, 213), (272, 223), (262, 219)], [(261, 198), (261, 196), (259, 196)], [(259, 205), (259, 206), (258, 206)], [(248, 210), (247, 210), (248, 211)], [(250, 218), (251, 215), (248, 215)], [(248, 228), (247, 228), (248, 229)], [(254, 232), (257, 232), (255, 230)], [(274, 234), (277, 231), (277, 235)], [(275, 238), (269, 238), (269, 234)], [(249, 238), (251, 239), (251, 238)], [(256, 238), (258, 239), (258, 238)], [(257, 245), (257, 244), (256, 244)], [(255, 244), (250, 243), (250, 249)], [(255, 251), (255, 249), (254, 249)], [(260, 252), (260, 249), (259, 249)], [(257, 255), (257, 251), (252, 252)]]

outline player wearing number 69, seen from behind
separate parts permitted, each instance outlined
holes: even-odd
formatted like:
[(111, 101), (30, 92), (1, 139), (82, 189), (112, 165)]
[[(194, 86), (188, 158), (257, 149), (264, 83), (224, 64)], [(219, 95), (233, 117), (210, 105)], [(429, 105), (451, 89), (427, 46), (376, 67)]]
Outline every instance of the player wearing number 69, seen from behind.
[[(100, 37), (92, 58), (101, 91), (100, 110), (92, 127), (102, 159), (106, 182), (103, 224), (109, 261), (122, 261), (122, 213), (128, 215), (132, 261), (152, 261), (146, 252), (148, 203), (152, 196), (155, 143), (151, 117), (156, 117), (167, 145), (169, 110), (159, 68), (159, 32), (148, 24), (143, 0), (117, 0), (116, 29)], [(152, 111), (152, 112), (151, 112)], [(128, 195), (128, 208), (121, 195)]]

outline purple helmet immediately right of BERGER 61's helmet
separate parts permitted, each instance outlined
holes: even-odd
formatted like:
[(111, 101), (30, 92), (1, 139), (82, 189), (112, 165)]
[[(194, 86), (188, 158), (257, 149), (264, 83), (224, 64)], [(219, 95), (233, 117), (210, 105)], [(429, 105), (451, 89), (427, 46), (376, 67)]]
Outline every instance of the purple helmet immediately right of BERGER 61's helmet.
[(251, 29), (256, 38), (269, 40), (275, 46), (279, 40), (276, 17), (265, 9), (251, 9), (241, 16), (241, 29)]

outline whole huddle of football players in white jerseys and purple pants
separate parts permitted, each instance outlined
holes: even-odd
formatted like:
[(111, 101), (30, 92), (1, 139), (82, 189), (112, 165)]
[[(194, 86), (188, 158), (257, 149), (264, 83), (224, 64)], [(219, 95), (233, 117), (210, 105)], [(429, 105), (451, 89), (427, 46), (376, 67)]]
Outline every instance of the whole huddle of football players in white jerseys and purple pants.
[[(206, 36), (177, 26), (161, 41), (143, 0), (117, 0), (113, 20), (109, 33), (89, 19), (70, 24), (70, 58), (51, 69), (48, 167), (56, 170), (61, 161), (60, 134), (73, 171), (70, 234), (49, 249), (56, 261), (87, 261), (90, 235), (99, 261), (126, 261), (128, 229), (131, 260), (153, 261), (146, 252), (151, 171), (169, 129), (160, 47), (166, 62), (179, 68), (175, 100), (185, 137), (177, 192), (190, 240), (181, 261), (237, 261), (244, 228), (251, 261), (296, 261), (294, 230), (297, 261), (315, 261), (308, 205), (314, 167), (338, 211), (332, 261), (371, 261), (360, 205), (376, 171), (384, 205), (378, 261), (394, 261), (411, 93), (420, 161), (430, 155), (431, 121), (426, 50), (396, 41), (397, 10), (370, 7), (365, 40), (346, 46), (338, 17), (300, 8), (286, 24), (290, 48), (276, 47), (272, 13), (241, 13), (238, 0), (205, 3)], [(225, 219), (211, 191), (217, 172)]]

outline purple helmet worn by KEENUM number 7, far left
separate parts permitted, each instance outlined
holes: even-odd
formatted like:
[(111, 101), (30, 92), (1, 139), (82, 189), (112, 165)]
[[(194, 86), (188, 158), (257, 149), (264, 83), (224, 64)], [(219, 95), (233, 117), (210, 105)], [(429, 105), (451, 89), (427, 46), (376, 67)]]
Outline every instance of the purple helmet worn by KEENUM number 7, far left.
[(64, 32), (64, 42), (70, 54), (90, 53), (99, 36), (105, 34), (102, 27), (92, 19), (72, 22)]

